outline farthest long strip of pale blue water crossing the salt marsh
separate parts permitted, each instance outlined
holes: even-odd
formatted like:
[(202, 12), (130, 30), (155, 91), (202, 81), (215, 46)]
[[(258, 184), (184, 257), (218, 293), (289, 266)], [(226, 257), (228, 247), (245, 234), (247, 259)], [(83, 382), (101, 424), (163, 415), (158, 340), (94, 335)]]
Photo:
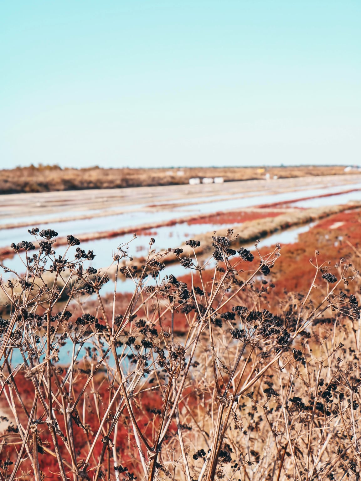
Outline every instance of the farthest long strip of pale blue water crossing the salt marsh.
[[(324, 194), (332, 194), (351, 189), (361, 189), (361, 183), (347, 184), (341, 186), (332, 186), (326, 188), (312, 188), (304, 189), (304, 186), (298, 190), (288, 192), (272, 192), (271, 190), (263, 190), (262, 192), (240, 192), (239, 194), (209, 196), (209, 197), (191, 197), (182, 200), (177, 200), (173, 203), (167, 203), (160, 207), (162, 202), (156, 202), (151, 205), (139, 204), (135, 206), (136, 210), (130, 211), (133, 207), (124, 207), (122, 214), (108, 215), (112, 209), (107, 209), (107, 215), (94, 217), (90, 219), (65, 220), (58, 222), (51, 222), (50, 226), (47, 224), (40, 224), (39, 228), (53, 228), (58, 232), (72, 233), (73, 235), (80, 235), (90, 232), (109, 231), (114, 229), (137, 227), (140, 225), (159, 224), (160, 222), (174, 221), (179, 217), (197, 216), (200, 214), (211, 214), (215, 212), (222, 212), (225, 210), (241, 210), (246, 207), (253, 207), (260, 204), (269, 203), (290, 203), (297, 201), (300, 197), (311, 197)], [(349, 196), (349, 197), (348, 197)], [(359, 192), (350, 192), (348, 194), (335, 195), (330, 197), (313, 199), (310, 201), (299, 201), (299, 203), (292, 204), (293, 206), (311, 206), (317, 207), (321, 205), (335, 205), (338, 203), (346, 203), (349, 200), (360, 199)], [(189, 202), (189, 203), (188, 203)], [(307, 204), (308, 203), (308, 204)], [(91, 211), (87, 211), (91, 214)], [(100, 212), (100, 211), (94, 211)], [(78, 213), (65, 212), (65, 215), (74, 215)], [(59, 217), (59, 215), (54, 215)], [(49, 215), (45, 220), (48, 220)], [(37, 217), (39, 219), (39, 217)], [(13, 219), (17, 222), (19, 219)], [(24, 218), (22, 218), (24, 220)], [(29, 220), (29, 227), (32, 226), (31, 219)], [(0, 221), (4, 222), (4, 219)], [(8, 222), (8, 219), (7, 219)], [(26, 228), (0, 229), (0, 246), (10, 245), (14, 239), (26, 239)], [(204, 231), (205, 232), (205, 231)]]

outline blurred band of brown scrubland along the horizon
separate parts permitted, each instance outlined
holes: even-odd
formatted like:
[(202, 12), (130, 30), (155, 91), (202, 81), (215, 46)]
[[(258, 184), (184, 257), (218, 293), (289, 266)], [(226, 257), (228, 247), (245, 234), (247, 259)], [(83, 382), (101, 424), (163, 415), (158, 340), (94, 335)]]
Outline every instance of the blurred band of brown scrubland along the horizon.
[[(55, 190), (115, 189), (125, 187), (188, 184), (191, 177), (224, 177), (224, 181), (264, 179), (270, 177), (307, 177), (355, 174), (342, 165), (300, 167), (211, 167), (171, 169), (61, 169), (57, 165), (17, 167), (0, 171), (0, 194), (48, 192)], [(181, 175), (179, 175), (181, 174)]]

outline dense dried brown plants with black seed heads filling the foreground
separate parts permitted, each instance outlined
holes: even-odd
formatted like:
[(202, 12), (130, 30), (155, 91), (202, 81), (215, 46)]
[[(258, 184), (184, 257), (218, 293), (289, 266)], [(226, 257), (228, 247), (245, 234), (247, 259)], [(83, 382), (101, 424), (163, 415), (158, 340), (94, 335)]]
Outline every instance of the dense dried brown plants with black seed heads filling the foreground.
[(309, 291), (277, 297), (280, 246), (236, 251), (232, 230), (206, 261), (199, 241), (187, 257), (151, 239), (142, 264), (122, 245), (101, 271), (75, 237), (59, 255), (55, 231), (30, 233), (12, 244), (25, 274), (0, 281), (0, 480), (359, 478), (360, 278), (344, 259), (316, 252)]

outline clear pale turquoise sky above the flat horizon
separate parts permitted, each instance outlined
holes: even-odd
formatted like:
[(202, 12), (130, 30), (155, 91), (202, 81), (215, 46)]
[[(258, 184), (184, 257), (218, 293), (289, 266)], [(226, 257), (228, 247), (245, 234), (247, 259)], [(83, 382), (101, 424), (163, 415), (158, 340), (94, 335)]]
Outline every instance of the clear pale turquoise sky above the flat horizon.
[(361, 164), (361, 1), (0, 5), (0, 167)]

